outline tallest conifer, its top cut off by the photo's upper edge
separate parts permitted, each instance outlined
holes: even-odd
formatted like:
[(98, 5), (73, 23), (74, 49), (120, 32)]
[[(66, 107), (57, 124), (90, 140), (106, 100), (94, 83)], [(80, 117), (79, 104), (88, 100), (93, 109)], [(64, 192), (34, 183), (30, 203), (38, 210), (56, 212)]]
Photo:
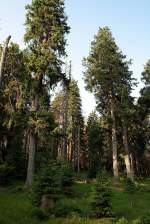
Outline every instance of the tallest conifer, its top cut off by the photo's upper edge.
[[(64, 78), (61, 65), (62, 57), (65, 55), (65, 35), (69, 32), (69, 27), (62, 0), (33, 0), (26, 9), (24, 38), (30, 53), (28, 66), (32, 75), (31, 110), (36, 115), (41, 110), (44, 87), (51, 89)], [(33, 182), (37, 138), (35, 125), (32, 125), (29, 138), (27, 187), (31, 187)]]

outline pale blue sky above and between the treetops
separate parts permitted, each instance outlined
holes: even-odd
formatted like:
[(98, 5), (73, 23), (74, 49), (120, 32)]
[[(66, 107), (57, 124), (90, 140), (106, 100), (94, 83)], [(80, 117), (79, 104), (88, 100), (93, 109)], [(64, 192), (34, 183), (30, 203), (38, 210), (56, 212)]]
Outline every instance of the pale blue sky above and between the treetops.
[[(0, 42), (8, 34), (23, 47), (25, 9), (31, 0), (5, 0), (0, 7)], [(67, 52), (72, 60), (73, 77), (78, 80), (83, 112), (94, 109), (94, 97), (84, 90), (82, 59), (99, 27), (109, 26), (120, 49), (133, 59), (134, 77), (140, 82), (144, 64), (150, 58), (149, 0), (66, 0), (66, 13), (71, 26)], [(133, 92), (138, 96), (142, 84)]]

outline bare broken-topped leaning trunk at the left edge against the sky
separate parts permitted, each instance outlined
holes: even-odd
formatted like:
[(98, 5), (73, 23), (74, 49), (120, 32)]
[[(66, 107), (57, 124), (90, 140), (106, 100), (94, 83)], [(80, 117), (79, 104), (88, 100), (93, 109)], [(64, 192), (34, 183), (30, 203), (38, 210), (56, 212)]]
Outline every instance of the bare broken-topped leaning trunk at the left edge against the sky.
[(1, 61), (0, 61), (0, 87), (2, 85), (3, 67), (4, 67), (4, 64), (5, 64), (7, 50), (8, 50), (8, 44), (9, 44), (10, 39), (11, 39), (11, 36), (8, 36), (6, 41), (5, 41), (5, 45), (4, 45), (4, 48), (3, 48), (3, 51), (2, 51), (2, 55), (1, 55)]

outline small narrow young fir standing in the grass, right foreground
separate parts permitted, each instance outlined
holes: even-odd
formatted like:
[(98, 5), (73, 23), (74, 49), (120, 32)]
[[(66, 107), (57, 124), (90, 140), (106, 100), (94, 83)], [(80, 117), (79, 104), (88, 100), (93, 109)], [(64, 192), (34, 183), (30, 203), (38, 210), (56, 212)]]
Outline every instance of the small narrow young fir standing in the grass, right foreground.
[(108, 218), (113, 216), (109, 179), (110, 178), (105, 171), (102, 171), (97, 176), (95, 201), (92, 203), (94, 215), (97, 218)]

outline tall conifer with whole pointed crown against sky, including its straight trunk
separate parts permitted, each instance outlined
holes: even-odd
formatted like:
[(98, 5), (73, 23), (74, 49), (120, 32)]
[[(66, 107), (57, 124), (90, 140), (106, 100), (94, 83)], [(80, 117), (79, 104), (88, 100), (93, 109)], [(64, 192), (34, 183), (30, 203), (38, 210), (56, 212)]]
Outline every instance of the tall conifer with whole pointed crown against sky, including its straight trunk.
[(86, 68), (84, 79), (86, 88), (96, 97), (100, 112), (111, 118), (113, 174), (116, 182), (119, 179), (116, 128), (117, 97), (120, 94), (120, 84), (126, 77), (122, 71), (126, 64), (128, 62), (117, 47), (109, 28), (100, 28), (91, 43), (89, 56), (84, 59)]

